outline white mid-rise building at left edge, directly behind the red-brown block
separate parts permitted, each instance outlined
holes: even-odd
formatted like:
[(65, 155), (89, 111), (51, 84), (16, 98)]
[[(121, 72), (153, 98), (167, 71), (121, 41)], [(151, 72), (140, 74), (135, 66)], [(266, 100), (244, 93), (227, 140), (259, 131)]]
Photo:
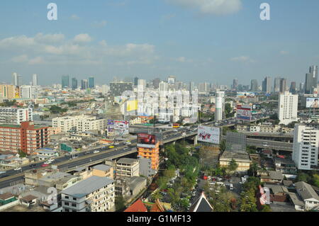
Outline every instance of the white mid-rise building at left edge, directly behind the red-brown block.
[(0, 108), (0, 124), (20, 125), (33, 121), (32, 108)]

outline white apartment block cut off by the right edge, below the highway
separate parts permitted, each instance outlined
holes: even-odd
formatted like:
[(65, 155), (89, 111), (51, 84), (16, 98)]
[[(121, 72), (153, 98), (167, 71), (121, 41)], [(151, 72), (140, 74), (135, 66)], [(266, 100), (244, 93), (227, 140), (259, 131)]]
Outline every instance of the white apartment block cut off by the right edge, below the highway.
[(293, 135), (293, 162), (298, 169), (311, 170), (318, 166), (319, 130), (296, 125)]

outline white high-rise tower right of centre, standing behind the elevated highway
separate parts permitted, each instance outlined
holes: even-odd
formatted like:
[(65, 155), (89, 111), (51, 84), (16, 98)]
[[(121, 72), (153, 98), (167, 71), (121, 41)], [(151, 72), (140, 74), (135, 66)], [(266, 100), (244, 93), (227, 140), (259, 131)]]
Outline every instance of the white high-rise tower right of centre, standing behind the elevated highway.
[(298, 95), (293, 95), (289, 91), (279, 94), (278, 118), (281, 124), (288, 125), (297, 121)]

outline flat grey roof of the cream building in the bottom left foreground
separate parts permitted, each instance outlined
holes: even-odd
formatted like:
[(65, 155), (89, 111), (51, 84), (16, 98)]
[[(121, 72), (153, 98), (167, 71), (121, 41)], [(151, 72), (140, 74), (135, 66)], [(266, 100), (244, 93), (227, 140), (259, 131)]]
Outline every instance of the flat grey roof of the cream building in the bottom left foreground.
[(77, 198), (82, 198), (113, 182), (114, 180), (108, 177), (90, 176), (88, 179), (74, 184), (74, 186), (63, 190), (61, 193)]

